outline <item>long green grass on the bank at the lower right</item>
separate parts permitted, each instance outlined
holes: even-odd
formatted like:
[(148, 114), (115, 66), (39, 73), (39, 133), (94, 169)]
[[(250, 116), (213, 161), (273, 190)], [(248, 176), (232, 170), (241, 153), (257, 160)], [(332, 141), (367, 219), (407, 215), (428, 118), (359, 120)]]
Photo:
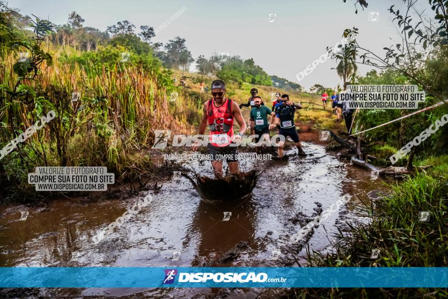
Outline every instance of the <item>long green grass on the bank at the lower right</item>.
[[(375, 201), (373, 210), (366, 208), (371, 223), (351, 225), (350, 232), (336, 237), (336, 253), (308, 253), (310, 266), (345, 267), (446, 267), (448, 266), (448, 155), (416, 161), (416, 165), (433, 165), (390, 185), (391, 194)], [(420, 222), (419, 211), (430, 212), (430, 222)], [(378, 259), (365, 258), (373, 249)], [(298, 290), (296, 290), (296, 293)], [(446, 289), (306, 289), (302, 295), (321, 297), (391, 296), (399, 298), (448, 297)]]

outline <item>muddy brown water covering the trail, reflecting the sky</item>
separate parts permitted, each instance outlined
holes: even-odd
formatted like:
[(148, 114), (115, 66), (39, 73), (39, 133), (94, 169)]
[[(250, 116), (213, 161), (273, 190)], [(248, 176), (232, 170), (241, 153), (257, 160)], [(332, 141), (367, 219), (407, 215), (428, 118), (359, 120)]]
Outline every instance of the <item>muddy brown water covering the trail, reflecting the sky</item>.
[[(114, 233), (95, 244), (92, 236), (114, 222), (138, 197), (84, 202), (61, 198), (44, 207), (0, 206), (0, 266), (297, 266), (310, 249), (331, 251), (337, 227), (368, 221), (362, 209), (368, 193), (388, 192), (384, 180), (347, 165), (320, 145), (304, 143), (309, 155), (286, 161), (244, 160), (243, 171), (262, 170), (253, 193), (239, 201), (204, 202), (185, 177), (174, 176), (150, 193), (153, 201)], [(286, 151), (286, 154), (295, 152)], [(185, 168), (212, 176), (209, 161)], [(282, 170), (279, 173), (279, 170)], [(231, 190), (217, 190), (227, 193)], [(290, 237), (314, 216), (341, 199), (351, 201), (330, 214), (312, 234), (292, 244)], [(26, 220), (19, 220), (28, 211)], [(222, 221), (231, 212), (228, 221)], [(325, 229), (324, 229), (325, 228)], [(259, 290), (261, 291), (261, 290)], [(212, 289), (39, 289), (51, 296), (202, 297)], [(221, 290), (222, 292), (222, 290)], [(229, 291), (230, 292), (230, 291)], [(254, 290), (231, 291), (234, 297)]]

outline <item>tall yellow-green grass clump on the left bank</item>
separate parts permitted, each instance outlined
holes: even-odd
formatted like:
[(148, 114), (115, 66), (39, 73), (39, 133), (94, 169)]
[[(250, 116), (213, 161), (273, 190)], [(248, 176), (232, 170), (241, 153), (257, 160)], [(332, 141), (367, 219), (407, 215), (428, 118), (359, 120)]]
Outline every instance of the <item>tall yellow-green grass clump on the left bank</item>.
[[(57, 117), (0, 160), (0, 184), (31, 189), (26, 174), (36, 166), (106, 166), (116, 177), (129, 176), (150, 167), (146, 149), (152, 146), (154, 130), (193, 130), (202, 99), (176, 87), (171, 72), (155, 58), (131, 53), (130, 63), (120, 63), (122, 51), (61, 51), (51, 65), (43, 62), (33, 79), (13, 71), (15, 51), (3, 52), (0, 146), (49, 111)], [(106, 58), (107, 63), (102, 60)], [(20, 88), (26, 88), (26, 96), (5, 92)], [(79, 93), (77, 101), (72, 93)], [(172, 93), (178, 93), (175, 101), (170, 101)]]

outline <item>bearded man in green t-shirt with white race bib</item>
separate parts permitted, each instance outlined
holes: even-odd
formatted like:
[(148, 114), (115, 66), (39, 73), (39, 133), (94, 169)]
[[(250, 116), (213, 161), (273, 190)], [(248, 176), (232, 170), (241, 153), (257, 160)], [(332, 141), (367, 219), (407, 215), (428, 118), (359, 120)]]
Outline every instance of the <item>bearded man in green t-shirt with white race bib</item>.
[[(268, 107), (262, 106), (262, 99), (259, 96), (254, 98), (255, 107), (250, 111), (250, 134), (258, 135), (255, 138), (255, 143), (258, 143), (262, 138), (269, 139), (269, 130), (274, 128), (275, 113), (273, 113)], [(271, 123), (269, 124), (268, 115), (271, 116)], [(269, 144), (270, 145), (270, 144)]]

